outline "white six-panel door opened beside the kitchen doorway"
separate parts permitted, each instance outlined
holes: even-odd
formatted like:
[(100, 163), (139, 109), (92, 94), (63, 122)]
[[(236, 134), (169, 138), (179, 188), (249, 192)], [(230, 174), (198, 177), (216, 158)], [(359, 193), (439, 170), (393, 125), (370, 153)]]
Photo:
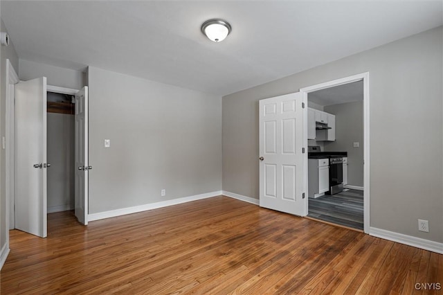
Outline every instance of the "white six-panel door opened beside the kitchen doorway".
[[(304, 216), (306, 98), (291, 93), (260, 100), (260, 206)], [(307, 133), (307, 132), (306, 132)]]

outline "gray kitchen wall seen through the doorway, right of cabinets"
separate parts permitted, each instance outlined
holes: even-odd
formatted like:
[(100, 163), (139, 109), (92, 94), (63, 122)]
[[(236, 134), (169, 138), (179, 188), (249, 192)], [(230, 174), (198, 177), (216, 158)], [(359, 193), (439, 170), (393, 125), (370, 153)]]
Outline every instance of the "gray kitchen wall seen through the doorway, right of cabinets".
[(325, 141), (325, 152), (347, 152), (347, 184), (363, 186), (363, 101), (329, 105), (325, 111), (335, 115), (336, 136), (336, 141)]

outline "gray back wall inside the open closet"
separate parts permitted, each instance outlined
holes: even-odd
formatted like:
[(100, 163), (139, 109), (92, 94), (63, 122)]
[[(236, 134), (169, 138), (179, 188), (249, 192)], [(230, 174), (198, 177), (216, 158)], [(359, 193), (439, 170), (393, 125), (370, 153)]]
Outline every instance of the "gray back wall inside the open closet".
[(74, 208), (74, 116), (48, 113), (48, 213)]

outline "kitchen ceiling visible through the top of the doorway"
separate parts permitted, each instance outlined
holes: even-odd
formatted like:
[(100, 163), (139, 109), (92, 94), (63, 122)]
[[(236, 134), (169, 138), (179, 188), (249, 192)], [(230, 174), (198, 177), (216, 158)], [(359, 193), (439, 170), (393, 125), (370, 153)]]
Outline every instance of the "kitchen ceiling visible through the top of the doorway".
[(363, 80), (308, 93), (307, 99), (323, 107), (363, 100)]

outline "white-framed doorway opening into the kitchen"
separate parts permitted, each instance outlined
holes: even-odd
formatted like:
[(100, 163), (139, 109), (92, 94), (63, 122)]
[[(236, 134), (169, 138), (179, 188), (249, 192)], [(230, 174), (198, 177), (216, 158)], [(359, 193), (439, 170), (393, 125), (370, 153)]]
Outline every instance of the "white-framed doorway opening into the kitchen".
[(307, 95), (307, 216), (369, 230), (369, 75), (300, 89)]

